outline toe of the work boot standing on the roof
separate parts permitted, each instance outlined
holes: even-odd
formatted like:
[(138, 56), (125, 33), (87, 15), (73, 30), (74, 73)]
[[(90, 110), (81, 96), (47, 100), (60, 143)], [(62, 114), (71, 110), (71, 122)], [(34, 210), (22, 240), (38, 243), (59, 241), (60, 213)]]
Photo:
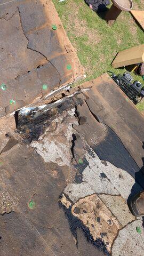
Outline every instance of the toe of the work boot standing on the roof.
[(144, 216), (144, 191), (141, 191), (131, 199), (129, 208), (134, 216)]

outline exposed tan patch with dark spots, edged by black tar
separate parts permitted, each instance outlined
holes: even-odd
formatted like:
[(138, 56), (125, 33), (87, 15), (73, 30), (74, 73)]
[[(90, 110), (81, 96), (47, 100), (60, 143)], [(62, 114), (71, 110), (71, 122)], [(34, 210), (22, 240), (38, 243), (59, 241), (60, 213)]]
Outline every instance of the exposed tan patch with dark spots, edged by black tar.
[(73, 205), (71, 212), (89, 228), (94, 240), (97, 238), (102, 239), (110, 252), (111, 244), (113, 244), (122, 225), (108, 210), (107, 206), (103, 204), (101, 199), (97, 195), (79, 199)]

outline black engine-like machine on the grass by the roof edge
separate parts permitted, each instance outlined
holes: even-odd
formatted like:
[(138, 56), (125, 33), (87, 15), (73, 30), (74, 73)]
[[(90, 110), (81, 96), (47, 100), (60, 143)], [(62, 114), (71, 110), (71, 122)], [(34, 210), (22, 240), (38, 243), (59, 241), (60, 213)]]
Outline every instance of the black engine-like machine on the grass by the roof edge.
[[(125, 72), (123, 75), (115, 75), (111, 71), (108, 72), (112, 74), (111, 78), (113, 78), (127, 97), (129, 97), (135, 104), (140, 102), (144, 97), (144, 87), (139, 81), (134, 81), (132, 83), (133, 78), (129, 72)], [(140, 97), (141, 99), (139, 100)]]

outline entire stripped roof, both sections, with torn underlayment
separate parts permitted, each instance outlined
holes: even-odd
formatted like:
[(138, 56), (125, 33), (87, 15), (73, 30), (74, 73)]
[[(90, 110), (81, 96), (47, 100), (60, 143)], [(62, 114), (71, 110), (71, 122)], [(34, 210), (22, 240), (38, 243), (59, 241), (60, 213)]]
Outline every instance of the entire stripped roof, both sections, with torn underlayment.
[(70, 88), (51, 0), (2, 0), (0, 23), (1, 256), (143, 256), (142, 115), (108, 74)]

